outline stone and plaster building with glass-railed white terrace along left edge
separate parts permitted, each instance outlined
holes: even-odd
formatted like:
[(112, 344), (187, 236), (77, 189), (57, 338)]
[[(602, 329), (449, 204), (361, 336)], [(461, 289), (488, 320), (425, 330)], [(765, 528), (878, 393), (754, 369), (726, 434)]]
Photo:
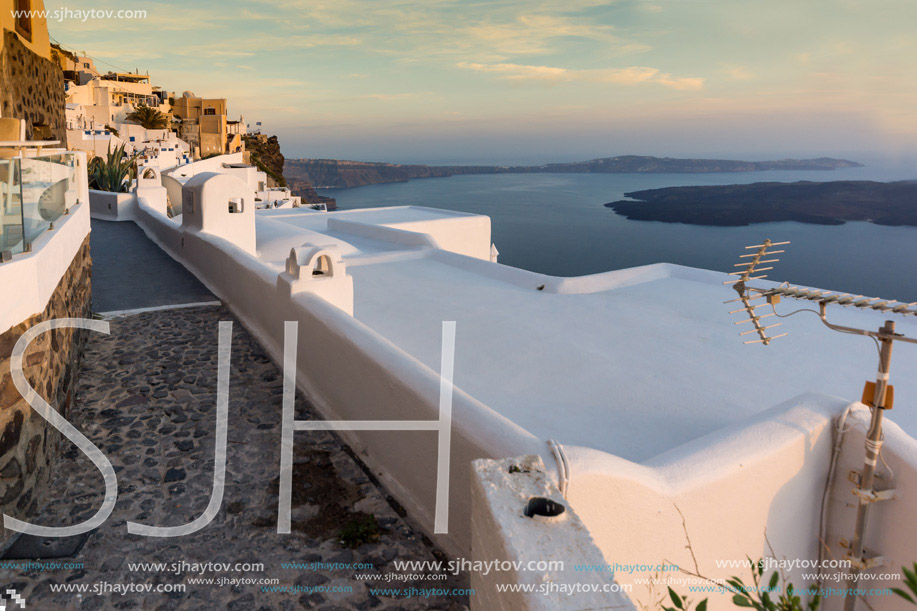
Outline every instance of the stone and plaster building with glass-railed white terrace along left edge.
[[(49, 59), (45, 21), (13, 13), (23, 4), (44, 8), (41, 0), (0, 1), (0, 114), (24, 122), (27, 139), (64, 141), (63, 74)], [(28, 520), (47, 499), (63, 444), (21, 396), (11, 357), (36, 325), (91, 315), (86, 156), (24, 146), (0, 153), (0, 513)], [(84, 338), (71, 328), (41, 333), (22, 359), (28, 384), (65, 417)], [(14, 534), (3, 530), (0, 550)]]

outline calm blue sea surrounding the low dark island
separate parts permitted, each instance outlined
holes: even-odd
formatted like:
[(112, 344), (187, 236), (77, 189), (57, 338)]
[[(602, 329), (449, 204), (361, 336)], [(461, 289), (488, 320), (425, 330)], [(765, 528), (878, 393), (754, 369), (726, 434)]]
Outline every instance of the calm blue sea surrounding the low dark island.
[(701, 227), (629, 221), (603, 205), (621, 199), (625, 192), (680, 185), (913, 178), (917, 171), (876, 168), (729, 174), (500, 174), (321, 192), (337, 198), (344, 210), (413, 204), (486, 214), (492, 219), (500, 262), (546, 274), (579, 276), (658, 262), (732, 271), (744, 246), (771, 238), (792, 241), (777, 269), (769, 272), (773, 279), (917, 301), (917, 227), (864, 222)]

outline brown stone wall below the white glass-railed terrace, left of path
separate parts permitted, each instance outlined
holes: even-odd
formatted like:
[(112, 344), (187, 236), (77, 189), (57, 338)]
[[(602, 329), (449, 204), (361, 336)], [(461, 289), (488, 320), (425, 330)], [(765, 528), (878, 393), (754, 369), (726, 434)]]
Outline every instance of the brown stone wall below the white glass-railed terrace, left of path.
[[(15, 263), (4, 265), (11, 264)], [(19, 519), (28, 519), (46, 500), (51, 468), (61, 441), (66, 440), (19, 395), (10, 375), (10, 353), (22, 334), (39, 322), (91, 317), (91, 275), (87, 235), (44, 311), (0, 334), (0, 512)], [(25, 354), (26, 379), (65, 417), (87, 333), (77, 329), (43, 333)], [(3, 529), (0, 549), (13, 534)]]

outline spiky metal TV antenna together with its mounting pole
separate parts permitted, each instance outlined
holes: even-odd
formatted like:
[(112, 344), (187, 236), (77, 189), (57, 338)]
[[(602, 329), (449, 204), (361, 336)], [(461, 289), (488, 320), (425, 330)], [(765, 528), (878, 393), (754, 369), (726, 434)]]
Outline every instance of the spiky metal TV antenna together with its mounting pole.
[[(853, 489), (853, 494), (859, 498), (855, 532), (853, 538), (847, 545), (847, 553), (844, 555), (844, 558), (849, 560), (854, 568), (854, 578), (850, 581), (853, 585), (850, 587), (855, 588), (856, 573), (876, 566), (881, 566), (884, 562), (884, 558), (881, 556), (867, 558), (864, 554), (863, 534), (866, 532), (869, 507), (873, 503), (895, 498), (894, 490), (876, 490), (874, 487), (876, 463), (879, 459), (882, 443), (884, 441), (882, 435), (882, 417), (885, 410), (892, 408), (895, 399), (895, 388), (888, 383), (892, 345), (896, 341), (917, 344), (917, 338), (905, 337), (900, 333), (896, 333), (894, 320), (886, 320), (885, 324), (875, 331), (832, 323), (828, 320), (828, 306), (854, 307), (861, 310), (888, 312), (899, 316), (917, 316), (917, 308), (915, 308), (917, 302), (905, 303), (894, 299), (884, 300), (878, 297), (866, 297), (864, 295), (852, 295), (850, 293), (820, 291), (790, 286), (790, 284), (786, 282), (774, 287), (749, 286), (748, 283), (750, 281), (766, 277), (766, 275), (760, 275), (760, 272), (773, 269), (773, 267), (761, 267), (761, 265), (776, 263), (779, 260), (769, 259), (767, 257), (785, 252), (783, 250), (770, 249), (775, 246), (784, 246), (786, 244), (789, 244), (789, 242), (771, 242), (770, 240), (764, 240), (763, 244), (746, 246), (746, 250), (754, 250), (755, 252), (740, 255), (740, 258), (750, 259), (750, 261), (743, 261), (736, 264), (735, 267), (741, 267), (743, 269), (732, 272), (730, 275), (737, 276), (737, 278), (734, 280), (727, 280), (723, 283), (731, 284), (732, 288), (739, 294), (736, 299), (731, 299), (726, 303), (741, 302), (743, 306), (730, 313), (745, 312), (748, 314), (747, 319), (741, 320), (735, 324), (739, 325), (751, 322), (754, 327), (749, 331), (740, 333), (740, 335), (749, 333), (758, 334), (758, 339), (746, 341), (745, 343), (752, 344), (760, 342), (766, 346), (778, 337), (787, 335), (786, 333), (773, 336), (768, 335), (767, 330), (779, 326), (780, 323), (763, 325), (760, 322), (763, 318), (770, 316), (786, 318), (787, 316), (792, 316), (799, 312), (814, 312), (818, 314), (822, 323), (832, 331), (870, 337), (876, 342), (879, 349), (879, 370), (876, 375), (876, 381), (866, 382), (863, 388), (863, 396), (860, 399), (864, 405), (869, 407), (872, 416), (869, 423), (869, 430), (866, 432), (866, 459), (864, 461), (863, 473), (856, 487)], [(813, 302), (818, 305), (818, 310), (803, 308), (795, 312), (790, 312), (789, 314), (779, 314), (776, 306), (784, 297), (787, 299)], [(753, 305), (753, 302), (761, 299), (764, 300), (762, 303)], [(770, 307), (770, 312), (758, 313), (759, 308), (765, 308), (766, 311), (767, 307)], [(848, 585), (850, 585), (850, 583), (848, 583)], [(844, 600), (845, 611), (853, 611), (855, 606), (856, 596), (847, 596)]]

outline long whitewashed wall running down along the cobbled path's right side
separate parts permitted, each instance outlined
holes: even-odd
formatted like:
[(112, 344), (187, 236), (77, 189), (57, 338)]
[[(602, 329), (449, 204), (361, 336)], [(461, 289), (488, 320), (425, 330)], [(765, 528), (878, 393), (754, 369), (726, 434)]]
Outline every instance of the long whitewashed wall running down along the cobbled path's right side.
[[(299, 321), (297, 384), (325, 418), (438, 418), (438, 372), (314, 294), (289, 298), (277, 288), (279, 272), (252, 252), (224, 237), (182, 226), (157, 206), (138, 193), (138, 225), (219, 296), (276, 362), (282, 362), (284, 321)], [(453, 413), (462, 417), (452, 425), (449, 532), (436, 538), (453, 554), (468, 556), (471, 461), (538, 453), (552, 459), (540, 440), (458, 389)], [(360, 431), (341, 436), (431, 532), (437, 434)]]

